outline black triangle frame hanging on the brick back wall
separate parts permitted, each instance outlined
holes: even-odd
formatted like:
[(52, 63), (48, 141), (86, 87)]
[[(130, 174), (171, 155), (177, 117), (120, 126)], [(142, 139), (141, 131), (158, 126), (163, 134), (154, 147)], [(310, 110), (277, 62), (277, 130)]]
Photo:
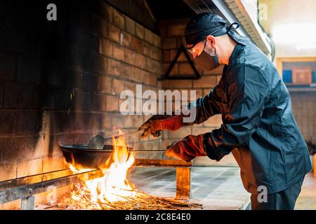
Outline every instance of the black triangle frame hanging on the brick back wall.
[[(173, 69), (173, 66), (176, 64), (178, 57), (180, 56), (181, 52), (185, 54), (185, 57), (187, 58), (187, 62), (189, 62), (191, 68), (195, 72), (195, 76), (169, 76), (171, 70)], [(197, 71), (197, 68), (195, 67), (195, 64), (192, 62), (192, 59), (190, 58), (190, 55), (187, 53), (187, 50), (185, 49), (185, 46), (181, 45), (178, 49), (178, 52), (176, 54), (176, 57), (172, 60), (172, 62), (169, 65), (168, 70), (166, 71), (164, 78), (166, 79), (198, 79), (201, 78), (201, 75), (199, 74), (199, 71)]]

